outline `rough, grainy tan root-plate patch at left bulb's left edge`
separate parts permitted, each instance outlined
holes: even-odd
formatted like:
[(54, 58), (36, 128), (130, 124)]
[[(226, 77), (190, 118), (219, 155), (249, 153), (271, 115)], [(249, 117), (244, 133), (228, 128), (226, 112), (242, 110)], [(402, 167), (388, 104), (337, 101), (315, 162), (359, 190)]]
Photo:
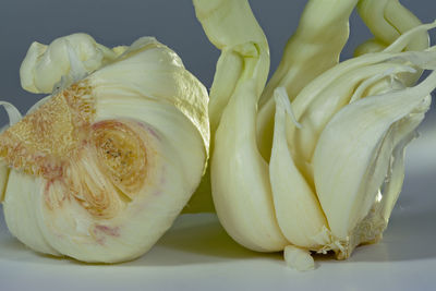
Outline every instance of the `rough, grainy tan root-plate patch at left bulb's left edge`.
[(94, 113), (90, 88), (82, 81), (2, 133), (0, 157), (26, 173), (48, 180), (59, 178), (86, 138)]

